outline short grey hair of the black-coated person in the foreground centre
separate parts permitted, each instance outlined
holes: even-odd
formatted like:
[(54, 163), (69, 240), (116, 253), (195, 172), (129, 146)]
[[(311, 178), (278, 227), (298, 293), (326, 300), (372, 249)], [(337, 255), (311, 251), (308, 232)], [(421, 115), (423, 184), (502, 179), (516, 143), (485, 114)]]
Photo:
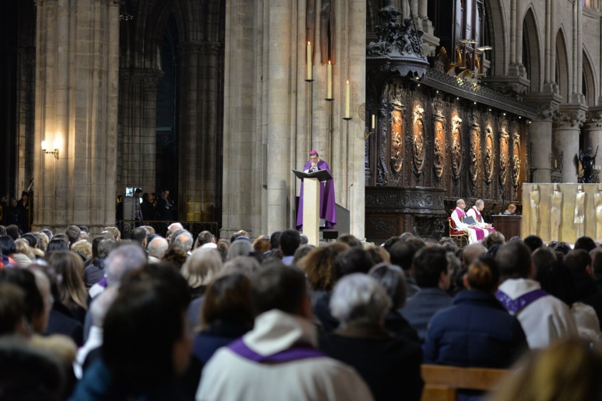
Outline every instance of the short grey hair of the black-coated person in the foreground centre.
[(342, 277), (330, 298), (330, 313), (341, 325), (350, 322), (382, 323), (392, 302), (374, 278), (362, 273)]

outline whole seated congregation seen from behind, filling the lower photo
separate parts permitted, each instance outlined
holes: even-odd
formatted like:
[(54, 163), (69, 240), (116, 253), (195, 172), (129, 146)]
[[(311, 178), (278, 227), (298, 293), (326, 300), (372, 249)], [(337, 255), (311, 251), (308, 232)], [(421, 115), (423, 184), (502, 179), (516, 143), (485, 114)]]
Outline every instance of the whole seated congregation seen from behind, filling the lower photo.
[(602, 399), (591, 238), (120, 236), (0, 226), (2, 399), (420, 400), (423, 363), (521, 366), (465, 399)]

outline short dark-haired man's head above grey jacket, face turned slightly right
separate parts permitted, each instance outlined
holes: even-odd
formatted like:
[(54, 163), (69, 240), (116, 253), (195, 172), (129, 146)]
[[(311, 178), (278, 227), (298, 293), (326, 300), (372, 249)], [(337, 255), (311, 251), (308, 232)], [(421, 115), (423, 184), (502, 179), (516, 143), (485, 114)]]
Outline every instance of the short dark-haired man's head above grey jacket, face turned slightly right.
[(451, 283), (445, 249), (427, 246), (414, 256), (414, 277), (420, 288), (447, 290)]

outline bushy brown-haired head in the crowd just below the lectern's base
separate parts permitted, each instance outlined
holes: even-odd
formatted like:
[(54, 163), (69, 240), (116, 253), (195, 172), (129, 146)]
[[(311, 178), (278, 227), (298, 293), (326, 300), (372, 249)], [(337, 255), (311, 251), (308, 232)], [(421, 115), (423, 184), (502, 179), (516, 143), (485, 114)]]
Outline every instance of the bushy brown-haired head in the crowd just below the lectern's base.
[(312, 249), (299, 262), (299, 267), (307, 275), (309, 286), (313, 290), (332, 290), (335, 280), (335, 259), (346, 249), (349, 249), (349, 245), (335, 241), (326, 246)]

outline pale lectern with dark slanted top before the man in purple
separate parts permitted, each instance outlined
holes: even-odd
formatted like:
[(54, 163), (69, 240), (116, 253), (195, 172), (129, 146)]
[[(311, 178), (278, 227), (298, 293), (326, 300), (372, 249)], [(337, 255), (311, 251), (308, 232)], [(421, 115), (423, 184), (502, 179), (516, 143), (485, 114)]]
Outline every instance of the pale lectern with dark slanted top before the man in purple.
[(309, 245), (318, 246), (320, 243), (320, 182), (332, 180), (332, 176), (328, 170), (303, 173), (303, 171), (293, 169), (293, 173), (303, 181), (303, 234), (307, 236)]

